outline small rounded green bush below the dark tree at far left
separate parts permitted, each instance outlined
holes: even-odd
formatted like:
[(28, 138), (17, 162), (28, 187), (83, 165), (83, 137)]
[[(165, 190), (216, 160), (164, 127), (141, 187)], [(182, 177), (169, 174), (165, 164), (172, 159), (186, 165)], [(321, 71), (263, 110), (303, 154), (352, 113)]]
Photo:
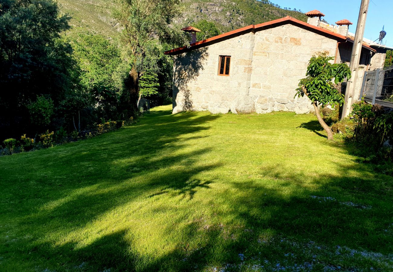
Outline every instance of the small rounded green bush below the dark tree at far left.
[(53, 115), (53, 101), (45, 96), (37, 96), (37, 99), (29, 101), (26, 105), (29, 110), (31, 122), (40, 127), (49, 125)]

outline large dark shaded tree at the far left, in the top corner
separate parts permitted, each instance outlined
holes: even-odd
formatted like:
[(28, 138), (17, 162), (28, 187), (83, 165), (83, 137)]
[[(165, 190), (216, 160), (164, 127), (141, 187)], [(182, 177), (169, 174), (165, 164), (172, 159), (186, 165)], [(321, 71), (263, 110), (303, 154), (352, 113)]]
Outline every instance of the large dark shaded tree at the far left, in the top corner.
[(72, 48), (60, 38), (69, 19), (54, 0), (0, 2), (0, 134), (26, 128), (30, 100), (56, 105), (72, 88)]

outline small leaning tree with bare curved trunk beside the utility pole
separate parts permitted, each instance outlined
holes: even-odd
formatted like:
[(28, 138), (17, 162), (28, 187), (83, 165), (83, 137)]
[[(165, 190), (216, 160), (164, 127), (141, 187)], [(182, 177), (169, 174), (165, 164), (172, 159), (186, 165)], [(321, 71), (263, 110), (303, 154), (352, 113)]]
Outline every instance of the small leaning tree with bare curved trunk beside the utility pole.
[[(309, 97), (318, 121), (327, 133), (328, 140), (333, 140), (333, 131), (323, 121), (318, 105), (343, 105), (344, 96), (338, 91), (336, 85), (343, 82), (345, 78), (351, 78), (351, 70), (348, 65), (345, 63), (332, 64), (329, 62), (332, 59), (333, 57), (329, 57), (327, 52), (320, 52), (318, 55), (312, 56), (309, 66), (307, 66), (307, 77), (300, 80), (295, 95), (295, 97)], [(332, 82), (333, 79), (335, 84)]]

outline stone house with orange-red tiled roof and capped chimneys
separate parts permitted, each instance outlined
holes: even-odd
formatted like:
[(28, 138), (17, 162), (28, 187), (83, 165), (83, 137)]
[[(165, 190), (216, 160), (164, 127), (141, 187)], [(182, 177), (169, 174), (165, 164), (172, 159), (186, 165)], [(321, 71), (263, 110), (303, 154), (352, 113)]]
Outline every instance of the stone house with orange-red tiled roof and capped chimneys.
[[(165, 52), (174, 55), (173, 113), (310, 112), (307, 97), (294, 98), (310, 57), (327, 51), (335, 62), (349, 62), (353, 37), (347, 20), (333, 27), (321, 22), (320, 11), (306, 15), (308, 23), (285, 17)], [(387, 49), (365, 42), (360, 66), (382, 68)]]

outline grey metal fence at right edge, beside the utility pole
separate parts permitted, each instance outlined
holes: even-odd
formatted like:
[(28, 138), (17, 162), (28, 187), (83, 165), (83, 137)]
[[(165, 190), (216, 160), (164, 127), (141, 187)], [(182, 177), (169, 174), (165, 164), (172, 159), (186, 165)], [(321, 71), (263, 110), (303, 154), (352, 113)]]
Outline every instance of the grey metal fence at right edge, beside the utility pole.
[(360, 99), (393, 108), (393, 66), (364, 72)]

